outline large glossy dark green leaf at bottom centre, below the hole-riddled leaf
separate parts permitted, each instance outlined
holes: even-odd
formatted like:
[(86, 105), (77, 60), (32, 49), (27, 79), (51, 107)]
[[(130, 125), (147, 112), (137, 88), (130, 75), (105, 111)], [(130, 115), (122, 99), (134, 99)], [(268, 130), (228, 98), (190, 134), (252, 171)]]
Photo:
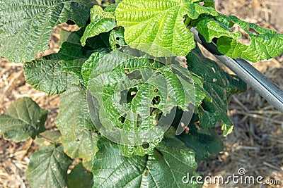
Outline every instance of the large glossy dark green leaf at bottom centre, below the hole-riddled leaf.
[(164, 139), (154, 153), (126, 157), (118, 144), (107, 139), (98, 142), (93, 157), (93, 187), (201, 187), (194, 180), (184, 184), (187, 173), (195, 175), (195, 153), (180, 148), (178, 139)]

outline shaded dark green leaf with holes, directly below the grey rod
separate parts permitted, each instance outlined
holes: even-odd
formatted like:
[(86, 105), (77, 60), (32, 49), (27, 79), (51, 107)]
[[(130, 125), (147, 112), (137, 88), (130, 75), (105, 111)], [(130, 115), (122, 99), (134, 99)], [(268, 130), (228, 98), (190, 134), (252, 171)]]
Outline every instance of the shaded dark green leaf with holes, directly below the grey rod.
[(220, 120), (226, 136), (233, 130), (233, 123), (227, 115), (231, 95), (245, 92), (246, 83), (235, 75), (225, 73), (216, 62), (205, 58), (198, 48), (187, 55), (187, 65), (193, 73), (202, 77), (204, 89), (212, 99), (212, 102), (204, 100), (199, 108), (200, 126), (214, 127)]

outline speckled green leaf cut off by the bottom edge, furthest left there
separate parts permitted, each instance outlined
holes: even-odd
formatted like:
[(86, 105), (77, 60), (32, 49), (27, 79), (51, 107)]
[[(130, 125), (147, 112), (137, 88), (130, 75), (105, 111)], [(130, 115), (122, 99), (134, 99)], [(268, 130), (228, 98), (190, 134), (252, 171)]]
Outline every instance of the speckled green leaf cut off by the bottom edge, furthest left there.
[(32, 187), (66, 187), (67, 170), (71, 162), (63, 146), (42, 146), (30, 157), (25, 175)]

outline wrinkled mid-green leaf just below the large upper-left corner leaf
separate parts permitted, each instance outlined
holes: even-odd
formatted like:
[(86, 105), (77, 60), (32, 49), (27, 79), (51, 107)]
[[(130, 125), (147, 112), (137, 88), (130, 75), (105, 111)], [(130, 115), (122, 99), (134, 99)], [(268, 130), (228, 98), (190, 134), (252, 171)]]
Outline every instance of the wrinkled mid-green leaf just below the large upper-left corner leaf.
[(70, 84), (77, 83), (74, 75), (63, 73), (57, 54), (43, 56), (25, 63), (25, 80), (35, 89), (50, 95), (64, 92)]

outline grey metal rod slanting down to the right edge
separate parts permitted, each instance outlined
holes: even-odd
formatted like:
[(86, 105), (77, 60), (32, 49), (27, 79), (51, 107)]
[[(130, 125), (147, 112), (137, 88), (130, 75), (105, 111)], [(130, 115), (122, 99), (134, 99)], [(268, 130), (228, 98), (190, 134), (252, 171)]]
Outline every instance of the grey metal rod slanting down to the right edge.
[(250, 63), (241, 58), (229, 58), (221, 54), (216, 44), (207, 43), (202, 35), (197, 32), (195, 27), (190, 30), (195, 35), (195, 40), (202, 44), (205, 49), (211, 52), (216, 58), (224, 65), (230, 68), (233, 73), (236, 73), (244, 82), (250, 85), (255, 92), (258, 92), (263, 98), (265, 98), (272, 106), (277, 108), (278, 111), (283, 113), (283, 91), (279, 89), (273, 82), (267, 79), (265, 75), (262, 75), (257, 69), (255, 69)]

